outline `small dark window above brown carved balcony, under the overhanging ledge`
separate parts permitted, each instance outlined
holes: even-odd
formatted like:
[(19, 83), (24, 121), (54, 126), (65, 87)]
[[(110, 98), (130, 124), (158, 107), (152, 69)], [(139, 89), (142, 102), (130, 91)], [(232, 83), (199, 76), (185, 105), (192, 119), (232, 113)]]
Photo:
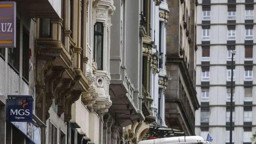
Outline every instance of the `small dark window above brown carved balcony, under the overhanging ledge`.
[(40, 19), (40, 36), (51, 37), (51, 21), (50, 19)]

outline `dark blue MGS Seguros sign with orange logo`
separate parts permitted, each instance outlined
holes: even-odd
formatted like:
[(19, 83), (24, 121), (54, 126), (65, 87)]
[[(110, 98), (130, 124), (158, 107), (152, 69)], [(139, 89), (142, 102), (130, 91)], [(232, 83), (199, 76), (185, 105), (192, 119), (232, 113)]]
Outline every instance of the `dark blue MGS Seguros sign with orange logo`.
[(32, 122), (33, 96), (8, 95), (6, 119), (10, 122)]

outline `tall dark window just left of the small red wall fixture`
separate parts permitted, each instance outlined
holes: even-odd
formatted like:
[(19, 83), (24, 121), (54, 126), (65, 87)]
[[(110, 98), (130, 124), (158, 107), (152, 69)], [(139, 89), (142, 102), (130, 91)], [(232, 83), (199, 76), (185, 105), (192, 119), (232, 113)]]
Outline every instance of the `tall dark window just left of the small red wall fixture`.
[(29, 31), (23, 26), (22, 38), (22, 76), (29, 82)]

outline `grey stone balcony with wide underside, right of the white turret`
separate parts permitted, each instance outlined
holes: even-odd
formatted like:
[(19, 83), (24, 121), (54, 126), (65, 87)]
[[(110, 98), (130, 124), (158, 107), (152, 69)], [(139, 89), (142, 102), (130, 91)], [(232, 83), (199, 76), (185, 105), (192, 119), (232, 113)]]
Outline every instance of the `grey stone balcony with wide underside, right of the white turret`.
[(121, 67), (121, 74), (111, 75), (109, 93), (112, 100), (111, 111), (118, 114), (117, 121), (122, 126), (132, 124), (134, 121), (143, 120), (143, 116), (137, 113), (138, 108), (134, 101), (138, 94), (134, 91), (134, 86), (128, 78), (125, 67)]

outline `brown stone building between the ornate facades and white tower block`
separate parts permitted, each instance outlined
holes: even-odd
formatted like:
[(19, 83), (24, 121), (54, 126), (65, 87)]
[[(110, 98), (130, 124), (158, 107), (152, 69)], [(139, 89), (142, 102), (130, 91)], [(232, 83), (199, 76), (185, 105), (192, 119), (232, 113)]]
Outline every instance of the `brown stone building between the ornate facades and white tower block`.
[(166, 125), (195, 135), (195, 111), (199, 108), (195, 91), (195, 0), (168, 0), (170, 10), (166, 30), (165, 97)]

